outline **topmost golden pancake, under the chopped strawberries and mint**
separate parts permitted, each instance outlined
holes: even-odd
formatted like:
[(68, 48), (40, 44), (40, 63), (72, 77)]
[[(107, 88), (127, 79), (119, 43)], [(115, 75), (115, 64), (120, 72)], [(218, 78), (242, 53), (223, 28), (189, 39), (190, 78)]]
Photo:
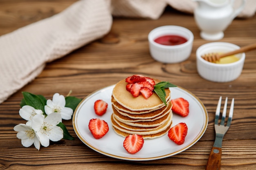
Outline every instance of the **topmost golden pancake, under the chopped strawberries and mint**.
[[(154, 79), (155, 83), (160, 82), (157, 79)], [(112, 91), (112, 96), (114, 99), (125, 108), (133, 111), (140, 110), (152, 110), (159, 108), (164, 105), (164, 102), (158, 97), (156, 93), (153, 93), (148, 99), (145, 99), (142, 95), (138, 97), (133, 97), (129, 91), (126, 90), (126, 80), (123, 79), (118, 82)], [(169, 88), (165, 89), (166, 92), (166, 101), (171, 97), (171, 91)]]

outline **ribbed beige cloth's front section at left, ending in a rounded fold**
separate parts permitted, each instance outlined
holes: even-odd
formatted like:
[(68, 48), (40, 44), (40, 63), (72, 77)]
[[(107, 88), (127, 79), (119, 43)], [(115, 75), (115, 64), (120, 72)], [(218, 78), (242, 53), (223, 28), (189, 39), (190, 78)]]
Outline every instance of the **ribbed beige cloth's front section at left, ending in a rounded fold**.
[(108, 33), (110, 3), (80, 0), (63, 12), (0, 37), (0, 103), (41, 73), (45, 64)]

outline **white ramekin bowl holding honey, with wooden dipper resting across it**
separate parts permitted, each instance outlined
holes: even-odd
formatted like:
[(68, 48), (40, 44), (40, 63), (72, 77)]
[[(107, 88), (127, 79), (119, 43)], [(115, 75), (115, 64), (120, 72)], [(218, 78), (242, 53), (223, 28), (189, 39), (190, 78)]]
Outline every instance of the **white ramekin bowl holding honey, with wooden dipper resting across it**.
[(196, 66), (198, 74), (211, 82), (231, 82), (237, 79), (243, 70), (245, 53), (236, 54), (238, 61), (229, 64), (207, 62), (202, 58), (206, 53), (225, 53), (240, 49), (228, 42), (211, 42), (200, 46), (196, 51)]

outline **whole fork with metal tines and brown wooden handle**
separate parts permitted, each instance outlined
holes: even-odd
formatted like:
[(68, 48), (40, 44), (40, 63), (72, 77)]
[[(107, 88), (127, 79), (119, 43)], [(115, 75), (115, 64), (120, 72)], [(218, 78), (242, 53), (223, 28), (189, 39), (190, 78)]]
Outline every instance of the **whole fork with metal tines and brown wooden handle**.
[(216, 114), (215, 114), (215, 121), (214, 121), (214, 128), (215, 128), (215, 141), (213, 144), (213, 148), (211, 149), (211, 153), (209, 155), (209, 159), (207, 162), (206, 170), (220, 170), (220, 161), (221, 161), (221, 146), (222, 146), (222, 139), (229, 129), (229, 126), (232, 121), (233, 117), (233, 110), (234, 110), (234, 98), (232, 99), (231, 106), (229, 109), (229, 118), (227, 120), (227, 124), (225, 126), (225, 118), (226, 118), (226, 112), (227, 112), (227, 97), (225, 100), (223, 112), (222, 112), (222, 118), (219, 125), (219, 117), (220, 117), (220, 105), (221, 105), (221, 96), (216, 108)]

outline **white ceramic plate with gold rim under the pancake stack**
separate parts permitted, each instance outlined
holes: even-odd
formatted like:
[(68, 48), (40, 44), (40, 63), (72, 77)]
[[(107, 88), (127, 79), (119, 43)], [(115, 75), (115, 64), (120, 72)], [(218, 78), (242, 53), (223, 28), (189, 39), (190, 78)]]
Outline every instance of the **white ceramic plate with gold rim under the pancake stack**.
[[(165, 134), (156, 139), (145, 139), (144, 146), (139, 152), (129, 154), (123, 147), (124, 137), (114, 132), (110, 121), (112, 114), (110, 97), (114, 86), (102, 88), (85, 97), (73, 115), (73, 127), (76, 135), (85, 145), (103, 155), (132, 161), (146, 161), (170, 157), (193, 146), (202, 137), (207, 128), (208, 114), (202, 102), (186, 89), (173, 87), (170, 88), (172, 99), (183, 97), (189, 102), (190, 111), (187, 117), (180, 117), (173, 114), (172, 126), (180, 122), (185, 122), (188, 126), (188, 133), (184, 144), (175, 144)], [(94, 113), (94, 102), (98, 99), (103, 99), (108, 103), (108, 110), (103, 116), (98, 116)], [(92, 118), (100, 118), (108, 123), (109, 131), (101, 139), (94, 139), (88, 128), (89, 121)]]

